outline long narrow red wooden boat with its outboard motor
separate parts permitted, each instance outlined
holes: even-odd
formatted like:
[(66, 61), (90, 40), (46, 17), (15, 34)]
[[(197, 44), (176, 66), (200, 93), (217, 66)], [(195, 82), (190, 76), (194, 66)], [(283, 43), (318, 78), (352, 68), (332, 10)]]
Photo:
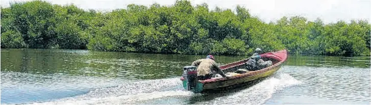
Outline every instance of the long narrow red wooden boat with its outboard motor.
[(230, 78), (213, 77), (207, 80), (197, 80), (196, 66), (184, 66), (183, 75), (181, 81), (183, 82), (183, 88), (187, 91), (194, 93), (202, 93), (206, 90), (213, 90), (218, 88), (225, 88), (234, 85), (241, 85), (257, 79), (266, 78), (273, 75), (286, 61), (287, 51), (286, 49), (276, 52), (268, 52), (260, 54), (261, 59), (264, 61), (271, 60), (272, 65), (258, 69), (257, 71), (249, 71), (244, 69), (246, 67), (245, 62), (249, 58), (242, 59), (236, 62), (220, 65), (220, 69), (230, 75)]

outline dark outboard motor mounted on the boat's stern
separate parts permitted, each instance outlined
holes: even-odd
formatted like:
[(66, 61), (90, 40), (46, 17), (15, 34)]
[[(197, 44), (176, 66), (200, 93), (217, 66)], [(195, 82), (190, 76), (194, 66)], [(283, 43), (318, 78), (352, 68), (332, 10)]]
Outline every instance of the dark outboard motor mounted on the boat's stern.
[(197, 83), (197, 67), (196, 66), (184, 66), (183, 67), (183, 87), (186, 90), (193, 90)]

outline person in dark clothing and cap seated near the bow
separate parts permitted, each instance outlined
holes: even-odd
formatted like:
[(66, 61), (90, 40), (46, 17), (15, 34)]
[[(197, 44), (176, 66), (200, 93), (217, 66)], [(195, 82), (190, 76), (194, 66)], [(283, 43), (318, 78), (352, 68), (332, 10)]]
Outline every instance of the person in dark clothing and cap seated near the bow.
[(262, 69), (272, 65), (272, 61), (264, 61), (263, 59), (261, 59), (261, 56), (259, 55), (260, 53), (260, 48), (255, 49), (255, 53), (250, 57), (248, 62), (246, 62), (246, 69), (248, 69), (249, 71), (257, 71), (258, 69)]

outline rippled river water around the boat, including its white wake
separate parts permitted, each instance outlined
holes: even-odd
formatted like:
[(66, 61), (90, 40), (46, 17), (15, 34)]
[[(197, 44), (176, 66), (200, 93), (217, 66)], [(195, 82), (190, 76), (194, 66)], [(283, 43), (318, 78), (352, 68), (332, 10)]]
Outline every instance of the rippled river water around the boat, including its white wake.
[[(219, 64), (244, 57), (215, 56)], [(1, 104), (370, 104), (370, 57), (289, 56), (273, 76), (194, 94), (194, 55), (1, 49)]]

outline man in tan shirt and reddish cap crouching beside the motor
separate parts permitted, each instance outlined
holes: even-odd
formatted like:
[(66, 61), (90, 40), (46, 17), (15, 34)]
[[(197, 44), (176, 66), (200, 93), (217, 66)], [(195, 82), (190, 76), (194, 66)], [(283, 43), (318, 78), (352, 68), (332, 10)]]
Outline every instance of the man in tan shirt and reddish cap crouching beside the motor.
[(211, 71), (215, 71), (222, 77), (228, 78), (216, 64), (212, 55), (208, 55), (206, 59), (193, 61), (192, 65), (197, 66), (197, 79), (199, 80), (210, 79), (213, 76)]

